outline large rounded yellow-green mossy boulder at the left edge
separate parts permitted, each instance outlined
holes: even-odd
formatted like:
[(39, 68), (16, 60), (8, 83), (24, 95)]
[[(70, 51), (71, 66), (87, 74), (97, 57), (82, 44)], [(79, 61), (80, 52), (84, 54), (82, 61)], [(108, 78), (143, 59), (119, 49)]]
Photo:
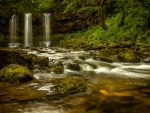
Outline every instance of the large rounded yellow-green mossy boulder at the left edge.
[(1, 81), (28, 81), (32, 80), (33, 74), (31, 71), (24, 66), (20, 66), (18, 64), (9, 64), (3, 69), (0, 70), (0, 80)]

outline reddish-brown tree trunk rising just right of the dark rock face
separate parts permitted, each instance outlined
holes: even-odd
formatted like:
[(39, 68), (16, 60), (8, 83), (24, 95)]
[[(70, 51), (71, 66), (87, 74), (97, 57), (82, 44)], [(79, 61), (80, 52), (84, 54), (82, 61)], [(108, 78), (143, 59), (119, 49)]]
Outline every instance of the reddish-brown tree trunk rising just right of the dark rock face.
[(104, 11), (103, 11), (103, 5), (104, 5), (104, 2), (105, 0), (101, 0), (101, 3), (100, 3), (100, 12), (101, 12), (101, 22), (102, 22), (102, 27), (103, 29), (107, 29), (108, 27), (106, 26), (105, 24), (105, 18), (104, 18)]

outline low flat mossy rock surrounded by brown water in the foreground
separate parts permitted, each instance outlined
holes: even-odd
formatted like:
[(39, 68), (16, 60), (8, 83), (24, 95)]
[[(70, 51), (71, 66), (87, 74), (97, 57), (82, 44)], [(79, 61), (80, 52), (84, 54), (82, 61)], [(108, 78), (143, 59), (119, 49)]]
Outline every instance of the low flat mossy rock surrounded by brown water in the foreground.
[(87, 91), (87, 83), (83, 78), (65, 77), (52, 81), (55, 93), (58, 94), (72, 94)]

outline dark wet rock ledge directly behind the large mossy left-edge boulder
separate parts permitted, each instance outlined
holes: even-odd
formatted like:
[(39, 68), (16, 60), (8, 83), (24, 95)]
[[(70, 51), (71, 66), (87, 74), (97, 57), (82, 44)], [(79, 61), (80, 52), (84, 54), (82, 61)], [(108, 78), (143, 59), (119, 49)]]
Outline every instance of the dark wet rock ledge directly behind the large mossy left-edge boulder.
[(27, 54), (26, 51), (19, 49), (0, 49), (0, 69), (8, 64), (20, 64), (29, 69), (34, 68), (33, 58), (35, 55)]

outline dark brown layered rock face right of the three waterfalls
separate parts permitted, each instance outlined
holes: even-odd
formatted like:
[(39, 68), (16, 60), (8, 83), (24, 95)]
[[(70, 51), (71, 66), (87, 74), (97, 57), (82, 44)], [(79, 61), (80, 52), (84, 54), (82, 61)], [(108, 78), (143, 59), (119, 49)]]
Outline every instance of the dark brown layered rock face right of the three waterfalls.
[(52, 33), (68, 33), (87, 28), (98, 23), (97, 13), (90, 12), (72, 12), (54, 15), (55, 21), (52, 21)]

